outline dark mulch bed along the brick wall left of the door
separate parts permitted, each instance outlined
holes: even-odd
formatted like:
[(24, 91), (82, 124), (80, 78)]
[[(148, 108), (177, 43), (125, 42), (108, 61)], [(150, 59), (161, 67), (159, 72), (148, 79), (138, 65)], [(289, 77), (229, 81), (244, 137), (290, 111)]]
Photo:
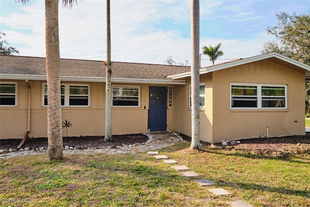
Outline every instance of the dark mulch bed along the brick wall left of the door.
[[(104, 136), (85, 136), (85, 137), (67, 137), (62, 139), (63, 146), (68, 145), (78, 149), (102, 148), (103, 146), (123, 146), (135, 143), (145, 143), (148, 137), (144, 134), (125, 134), (113, 135), (111, 142), (105, 142)], [(21, 139), (0, 140), (0, 149), (14, 149), (21, 142)], [(30, 148), (47, 147), (47, 138), (31, 138), (22, 146)]]

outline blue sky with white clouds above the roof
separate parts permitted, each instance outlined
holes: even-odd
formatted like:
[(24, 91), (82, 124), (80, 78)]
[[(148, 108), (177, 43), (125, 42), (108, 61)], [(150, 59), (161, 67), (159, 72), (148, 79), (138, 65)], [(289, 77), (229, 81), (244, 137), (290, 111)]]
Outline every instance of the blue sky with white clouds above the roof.
[[(59, 1), (61, 58), (106, 60), (106, 0)], [(190, 0), (111, 0), (112, 62), (166, 64), (191, 59)], [(276, 13), (309, 14), (310, 0), (200, 0), (200, 53), (222, 43), (215, 62), (259, 55), (275, 40)], [(21, 56), (45, 57), (44, 0), (0, 0), (0, 31)], [(202, 55), (201, 66), (212, 65)]]

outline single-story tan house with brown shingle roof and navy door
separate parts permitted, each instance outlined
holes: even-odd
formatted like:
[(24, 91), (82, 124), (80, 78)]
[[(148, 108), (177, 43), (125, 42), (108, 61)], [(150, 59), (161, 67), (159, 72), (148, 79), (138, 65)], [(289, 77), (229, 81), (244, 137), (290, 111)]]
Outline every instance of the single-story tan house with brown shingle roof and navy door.
[[(68, 136), (105, 133), (102, 61), (61, 59)], [(200, 69), (200, 138), (219, 143), (305, 134), (310, 66), (278, 53)], [(112, 134), (177, 131), (191, 136), (190, 67), (112, 63)], [(0, 139), (47, 137), (46, 60), (0, 56)], [(63, 130), (65, 136), (65, 130)]]

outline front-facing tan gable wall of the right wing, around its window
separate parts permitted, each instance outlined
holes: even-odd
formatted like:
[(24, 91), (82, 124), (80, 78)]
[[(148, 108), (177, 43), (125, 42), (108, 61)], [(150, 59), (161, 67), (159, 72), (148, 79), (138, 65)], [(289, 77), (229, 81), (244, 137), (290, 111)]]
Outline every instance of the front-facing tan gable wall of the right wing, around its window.
[[(231, 110), (230, 83), (287, 84), (287, 110)], [(213, 142), (305, 134), (305, 75), (263, 60), (213, 72)], [(295, 120), (298, 120), (295, 123)]]

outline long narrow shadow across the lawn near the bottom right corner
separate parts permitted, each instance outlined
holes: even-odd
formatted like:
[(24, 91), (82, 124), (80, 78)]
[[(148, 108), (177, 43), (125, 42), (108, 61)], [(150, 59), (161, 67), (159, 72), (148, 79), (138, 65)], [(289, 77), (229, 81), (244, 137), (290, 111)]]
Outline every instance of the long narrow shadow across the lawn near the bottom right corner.
[(258, 190), (258, 191), (268, 191), (268, 192), (277, 192), (281, 194), (289, 195), (298, 195), (306, 198), (310, 198), (310, 191), (301, 191), (301, 190), (291, 190), (286, 188), (276, 188), (270, 186), (259, 185), (255, 183), (242, 183), (242, 182), (230, 182), (225, 180), (212, 180), (216, 184), (221, 186), (229, 186), (232, 188), (239, 188), (242, 190)]

